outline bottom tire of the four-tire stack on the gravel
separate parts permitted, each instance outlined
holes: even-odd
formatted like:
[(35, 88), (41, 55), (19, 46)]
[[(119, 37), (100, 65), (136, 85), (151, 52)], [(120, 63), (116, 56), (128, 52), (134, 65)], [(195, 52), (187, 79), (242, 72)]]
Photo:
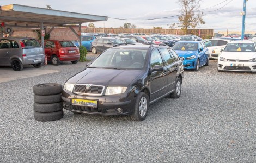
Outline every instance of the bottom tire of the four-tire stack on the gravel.
[(56, 121), (63, 118), (63, 110), (56, 112), (34, 112), (34, 118), (38, 121)]

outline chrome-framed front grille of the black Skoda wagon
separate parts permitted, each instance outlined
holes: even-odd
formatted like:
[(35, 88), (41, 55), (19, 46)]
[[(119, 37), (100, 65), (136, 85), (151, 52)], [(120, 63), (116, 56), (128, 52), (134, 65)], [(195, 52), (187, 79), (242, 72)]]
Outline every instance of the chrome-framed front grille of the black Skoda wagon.
[(99, 96), (102, 95), (104, 91), (104, 86), (102, 85), (90, 85), (89, 88), (86, 88), (88, 84), (76, 84), (74, 93), (78, 95), (92, 95)]

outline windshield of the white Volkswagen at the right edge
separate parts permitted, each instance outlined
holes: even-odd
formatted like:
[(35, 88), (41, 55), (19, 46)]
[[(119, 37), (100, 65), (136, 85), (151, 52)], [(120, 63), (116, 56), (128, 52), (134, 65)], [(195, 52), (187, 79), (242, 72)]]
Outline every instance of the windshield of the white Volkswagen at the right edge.
[(255, 52), (254, 43), (228, 43), (224, 52)]

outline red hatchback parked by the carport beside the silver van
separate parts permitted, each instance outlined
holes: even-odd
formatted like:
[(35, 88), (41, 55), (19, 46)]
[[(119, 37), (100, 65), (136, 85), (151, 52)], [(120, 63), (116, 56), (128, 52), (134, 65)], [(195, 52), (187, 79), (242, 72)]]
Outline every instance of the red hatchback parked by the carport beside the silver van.
[(61, 61), (71, 61), (76, 64), (80, 59), (79, 48), (68, 40), (45, 40), (45, 55), (53, 65), (59, 65)]

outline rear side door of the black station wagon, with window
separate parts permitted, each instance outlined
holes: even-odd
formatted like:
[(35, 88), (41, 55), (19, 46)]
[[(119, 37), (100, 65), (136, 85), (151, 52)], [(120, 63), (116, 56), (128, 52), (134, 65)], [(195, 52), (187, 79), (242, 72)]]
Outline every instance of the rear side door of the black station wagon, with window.
[(167, 89), (172, 91), (175, 87), (176, 73), (178, 70), (178, 64), (175, 63), (174, 57), (170, 54), (168, 48), (159, 48), (164, 61), (164, 71), (167, 73)]

